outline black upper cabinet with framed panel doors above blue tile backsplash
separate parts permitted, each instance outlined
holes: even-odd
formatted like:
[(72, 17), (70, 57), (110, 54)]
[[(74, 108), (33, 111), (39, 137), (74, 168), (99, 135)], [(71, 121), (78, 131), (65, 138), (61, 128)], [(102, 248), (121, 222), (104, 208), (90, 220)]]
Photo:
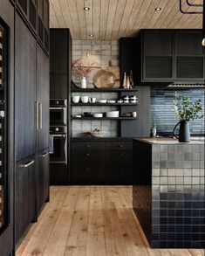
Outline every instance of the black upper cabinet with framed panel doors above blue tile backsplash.
[(202, 30), (140, 31), (135, 62), (138, 83), (203, 82), (201, 42)]

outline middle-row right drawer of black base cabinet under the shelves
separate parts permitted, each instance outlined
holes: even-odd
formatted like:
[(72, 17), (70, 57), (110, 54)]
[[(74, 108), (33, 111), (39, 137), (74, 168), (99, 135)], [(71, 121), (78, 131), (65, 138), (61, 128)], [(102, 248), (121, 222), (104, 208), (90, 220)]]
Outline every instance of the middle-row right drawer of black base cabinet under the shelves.
[(132, 164), (132, 150), (110, 150), (109, 154), (105, 153), (105, 163), (113, 164)]

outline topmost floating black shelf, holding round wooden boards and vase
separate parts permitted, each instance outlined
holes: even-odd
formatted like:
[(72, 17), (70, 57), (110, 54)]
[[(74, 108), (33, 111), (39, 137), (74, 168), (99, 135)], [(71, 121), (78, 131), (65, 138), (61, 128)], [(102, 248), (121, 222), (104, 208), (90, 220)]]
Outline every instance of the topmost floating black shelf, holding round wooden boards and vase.
[(72, 93), (120, 93), (120, 92), (137, 92), (137, 88), (124, 89), (124, 88), (72, 88)]

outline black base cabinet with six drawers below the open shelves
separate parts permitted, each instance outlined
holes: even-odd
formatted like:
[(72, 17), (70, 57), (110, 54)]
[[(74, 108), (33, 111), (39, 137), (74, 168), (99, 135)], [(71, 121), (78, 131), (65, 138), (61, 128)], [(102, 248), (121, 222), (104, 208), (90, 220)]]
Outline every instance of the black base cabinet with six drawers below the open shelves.
[(133, 142), (72, 139), (72, 183), (132, 183)]

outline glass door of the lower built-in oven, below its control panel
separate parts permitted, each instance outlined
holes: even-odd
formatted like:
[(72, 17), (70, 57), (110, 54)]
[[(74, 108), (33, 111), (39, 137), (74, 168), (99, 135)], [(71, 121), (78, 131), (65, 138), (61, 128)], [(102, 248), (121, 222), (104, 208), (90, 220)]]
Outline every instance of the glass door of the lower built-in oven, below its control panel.
[(67, 164), (66, 135), (50, 135), (50, 163)]

